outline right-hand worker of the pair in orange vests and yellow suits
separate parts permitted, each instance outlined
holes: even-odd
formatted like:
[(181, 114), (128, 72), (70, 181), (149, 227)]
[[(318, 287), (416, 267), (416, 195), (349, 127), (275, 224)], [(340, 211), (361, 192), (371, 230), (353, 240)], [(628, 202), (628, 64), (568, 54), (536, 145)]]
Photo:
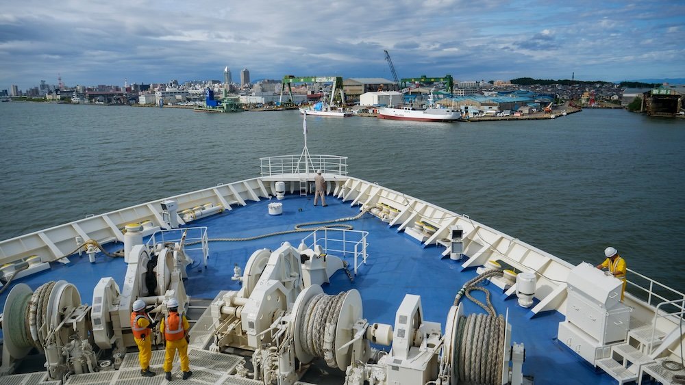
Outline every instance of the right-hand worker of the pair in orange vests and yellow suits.
[(167, 381), (171, 381), (171, 367), (178, 350), (178, 356), (181, 358), (183, 379), (188, 380), (188, 377), (192, 375), (188, 362), (188, 341), (190, 341), (188, 330), (190, 330), (190, 324), (185, 315), (178, 313), (178, 300), (171, 298), (166, 303), (166, 308), (169, 309), (169, 315), (164, 317), (162, 323), (160, 323), (160, 330), (164, 333), (164, 340), (166, 341), (163, 366), (164, 375), (166, 375)]

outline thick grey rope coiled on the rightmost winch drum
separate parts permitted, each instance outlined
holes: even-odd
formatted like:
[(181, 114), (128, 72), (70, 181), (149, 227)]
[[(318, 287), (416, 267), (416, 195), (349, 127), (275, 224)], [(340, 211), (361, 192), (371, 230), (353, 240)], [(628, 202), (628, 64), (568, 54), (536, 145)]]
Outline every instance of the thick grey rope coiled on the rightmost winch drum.
[[(476, 286), (487, 278), (501, 274), (501, 269), (486, 271), (466, 282), (454, 298), (456, 306), (462, 295), (466, 295), (488, 313), (460, 317), (453, 347), (455, 367), (452, 370), (461, 382), (501, 384), (506, 320), (495, 312), (495, 307), (490, 302), (490, 292), (484, 287)], [(485, 293), (487, 305), (471, 296), (470, 292), (473, 290)]]

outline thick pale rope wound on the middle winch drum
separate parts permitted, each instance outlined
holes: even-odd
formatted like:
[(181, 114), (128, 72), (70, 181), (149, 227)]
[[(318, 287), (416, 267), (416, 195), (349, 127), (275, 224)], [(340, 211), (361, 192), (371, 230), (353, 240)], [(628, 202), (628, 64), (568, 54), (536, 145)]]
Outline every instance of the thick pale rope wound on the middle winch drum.
[(304, 351), (312, 356), (323, 357), (332, 368), (338, 367), (335, 355), (336, 329), (345, 297), (346, 291), (338, 295), (315, 295), (307, 302), (300, 324)]

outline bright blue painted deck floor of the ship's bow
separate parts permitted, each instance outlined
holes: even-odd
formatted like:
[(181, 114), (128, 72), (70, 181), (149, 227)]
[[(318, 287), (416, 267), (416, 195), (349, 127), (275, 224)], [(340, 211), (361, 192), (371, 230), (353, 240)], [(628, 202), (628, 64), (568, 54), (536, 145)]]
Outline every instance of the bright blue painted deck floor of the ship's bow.
[[(219, 215), (192, 222), (192, 226), (208, 226), (208, 236), (213, 238), (249, 237), (282, 230), (291, 230), (295, 224), (319, 220), (333, 220), (359, 213), (358, 207), (350, 207), (332, 196), (327, 197), (328, 207), (314, 207), (312, 197), (286, 196), (282, 201), (283, 215), (269, 215), (269, 200), (249, 202), (245, 207), (234, 207)], [(454, 295), (464, 282), (476, 276), (474, 270), (461, 271), (460, 263), (441, 258), (443, 248), (421, 248), (408, 235), (398, 233), (370, 214), (348, 222), (354, 230), (369, 232), (369, 260), (362, 265), (359, 274), (350, 282), (347, 275), (338, 271), (324, 290), (329, 293), (352, 288), (358, 289), (364, 304), (364, 317), (369, 322), (393, 325), (395, 312), (405, 294), (421, 295), (424, 319), (440, 322), (445, 332), (445, 319)], [(271, 250), (288, 241), (297, 245), (308, 233), (279, 235), (253, 241), (212, 242), (207, 269), (195, 265), (188, 271), (186, 291), (195, 298), (214, 298), (221, 290), (238, 290), (238, 282), (232, 281), (234, 263), (245, 267), (249, 256), (260, 248)], [(113, 249), (121, 244), (112, 245)], [(92, 302), (92, 287), (101, 276), (114, 276), (121, 285), (125, 275), (122, 258), (105, 259), (91, 265), (87, 256), (71, 258), (74, 266), (55, 264), (42, 274), (24, 278), (19, 282), (36, 289), (47, 280), (64, 279), (74, 283), (82, 295), (82, 302)], [(350, 261), (351, 262), (351, 261)], [(79, 268), (73, 268), (78, 266)], [(516, 299), (503, 300), (501, 289), (488, 285), (493, 293), (493, 304), (499, 314), (509, 309), (512, 324), (512, 341), (525, 344), (523, 373), (532, 375), (536, 384), (615, 384), (615, 381), (595, 371), (580, 356), (556, 341), (558, 323), (564, 317), (549, 312), (530, 319), (528, 309), (516, 304)], [(0, 297), (4, 305), (6, 293)], [(484, 300), (482, 293), (475, 297)], [(484, 310), (464, 298), (466, 314), (484, 313)]]

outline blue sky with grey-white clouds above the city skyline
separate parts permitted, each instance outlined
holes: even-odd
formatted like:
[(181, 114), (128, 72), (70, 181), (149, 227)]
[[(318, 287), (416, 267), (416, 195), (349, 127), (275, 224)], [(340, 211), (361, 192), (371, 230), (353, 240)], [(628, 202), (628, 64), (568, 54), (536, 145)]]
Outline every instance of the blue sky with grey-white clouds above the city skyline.
[(0, 89), (452, 75), (685, 77), (684, 0), (2, 1)]

